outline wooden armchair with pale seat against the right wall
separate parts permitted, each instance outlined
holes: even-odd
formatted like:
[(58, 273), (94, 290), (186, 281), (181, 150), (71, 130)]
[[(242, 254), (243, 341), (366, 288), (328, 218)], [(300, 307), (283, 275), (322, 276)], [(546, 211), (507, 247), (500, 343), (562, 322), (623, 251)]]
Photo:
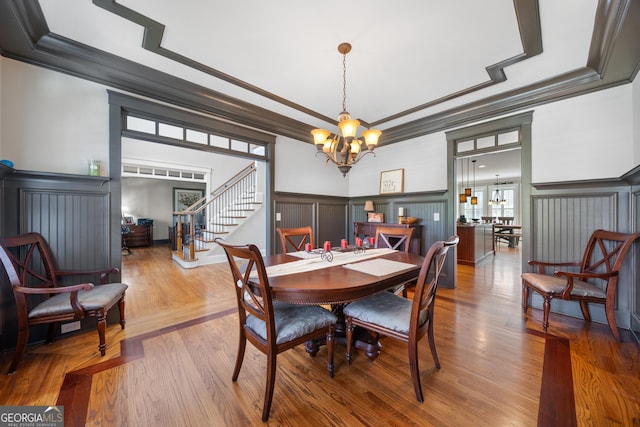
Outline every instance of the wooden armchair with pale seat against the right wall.
[[(614, 311), (618, 274), (625, 256), (639, 237), (640, 233), (596, 230), (589, 237), (581, 261), (529, 261), (529, 265), (536, 268), (537, 272), (522, 274), (522, 310), (527, 312), (529, 291), (540, 294), (543, 299), (542, 329), (547, 332), (553, 298), (578, 301), (587, 322), (591, 321), (588, 303), (604, 304), (611, 333), (620, 341)], [(574, 268), (572, 271), (549, 272), (550, 268), (556, 267)]]

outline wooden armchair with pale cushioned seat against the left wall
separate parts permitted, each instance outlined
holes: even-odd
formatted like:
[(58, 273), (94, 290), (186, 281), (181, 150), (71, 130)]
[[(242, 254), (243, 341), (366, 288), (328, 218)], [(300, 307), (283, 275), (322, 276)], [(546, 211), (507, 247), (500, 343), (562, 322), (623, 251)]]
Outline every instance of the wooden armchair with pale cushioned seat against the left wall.
[[(95, 271), (57, 270), (49, 246), (38, 233), (0, 239), (0, 260), (13, 289), (18, 321), (16, 350), (8, 373), (16, 370), (29, 341), (29, 329), (33, 325), (49, 324), (46, 340), (49, 343), (61, 322), (96, 317), (100, 339), (98, 350), (102, 356), (107, 348), (107, 312), (116, 303), (120, 309), (120, 327), (124, 329), (124, 296), (127, 285), (106, 283), (109, 274), (119, 271), (117, 268)], [(65, 276), (100, 277), (100, 284), (62, 285), (60, 279)]]

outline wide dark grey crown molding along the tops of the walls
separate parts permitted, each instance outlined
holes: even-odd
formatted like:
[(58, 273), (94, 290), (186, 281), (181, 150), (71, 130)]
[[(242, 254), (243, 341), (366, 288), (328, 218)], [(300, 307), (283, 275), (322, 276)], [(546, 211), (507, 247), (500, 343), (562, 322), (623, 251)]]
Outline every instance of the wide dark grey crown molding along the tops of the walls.
[[(526, 7), (532, 4), (537, 8), (537, 2), (514, 2), (514, 5), (520, 6), (520, 9), (516, 7), (519, 16), (528, 14)], [(525, 51), (535, 54), (541, 49), (541, 41), (536, 42), (534, 36), (535, 22), (521, 19), (519, 22), (526, 23), (520, 27)], [(148, 42), (155, 39), (151, 37)], [(630, 83), (640, 69), (638, 39), (640, 1), (600, 0), (585, 67), (388, 128), (384, 130), (379, 145)], [(313, 128), (311, 125), (51, 33), (37, 0), (0, 2), (0, 52), (11, 59), (131, 94), (168, 102), (275, 135), (312, 142), (309, 133)], [(501, 67), (493, 68), (493, 71), (488, 69), (488, 72), (499, 76), (499, 69)]]

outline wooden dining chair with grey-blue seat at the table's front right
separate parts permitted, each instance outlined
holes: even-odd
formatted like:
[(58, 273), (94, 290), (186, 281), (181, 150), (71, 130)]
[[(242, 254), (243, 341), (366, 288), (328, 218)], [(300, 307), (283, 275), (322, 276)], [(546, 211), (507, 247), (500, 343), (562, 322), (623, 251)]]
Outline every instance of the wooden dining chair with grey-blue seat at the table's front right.
[(418, 367), (418, 342), (428, 335), (431, 356), (436, 368), (440, 360), (433, 336), (433, 312), (438, 288), (438, 278), (447, 251), (458, 244), (458, 236), (447, 241), (435, 242), (424, 258), (413, 300), (391, 292), (379, 292), (370, 297), (347, 304), (343, 313), (347, 325), (347, 363), (351, 363), (351, 347), (354, 326), (382, 334), (409, 345), (409, 368), (418, 402), (423, 402), (420, 370)]

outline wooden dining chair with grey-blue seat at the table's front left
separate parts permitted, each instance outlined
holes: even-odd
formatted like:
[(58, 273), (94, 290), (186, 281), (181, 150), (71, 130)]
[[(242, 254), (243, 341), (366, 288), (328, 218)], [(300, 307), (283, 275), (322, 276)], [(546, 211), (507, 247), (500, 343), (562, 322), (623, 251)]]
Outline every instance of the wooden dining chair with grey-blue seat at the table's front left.
[[(260, 250), (255, 245), (234, 246), (216, 239), (224, 249), (238, 303), (240, 340), (236, 365), (231, 377), (238, 379), (249, 340), (267, 355), (267, 383), (262, 408), (262, 421), (267, 421), (276, 379), (276, 356), (285, 350), (311, 340), (327, 343), (327, 369), (333, 377), (333, 334), (337, 317), (316, 305), (287, 304), (271, 298), (269, 278)], [(252, 270), (255, 267), (255, 276)], [(315, 356), (317, 347), (311, 356)]]

